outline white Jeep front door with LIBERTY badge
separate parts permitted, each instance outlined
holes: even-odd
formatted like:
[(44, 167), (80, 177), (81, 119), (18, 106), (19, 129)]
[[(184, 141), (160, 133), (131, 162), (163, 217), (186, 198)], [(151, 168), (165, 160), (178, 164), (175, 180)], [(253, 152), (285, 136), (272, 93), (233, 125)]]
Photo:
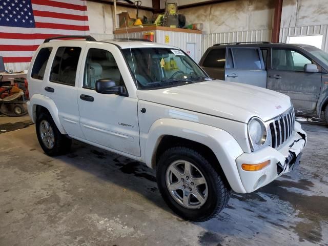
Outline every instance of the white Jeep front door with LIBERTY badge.
[(101, 78), (111, 78), (116, 86), (125, 86), (116, 57), (123, 59), (114, 46), (87, 47), (81, 69), (83, 81), (77, 93), (80, 127), (88, 141), (140, 156), (137, 98), (95, 91), (96, 81)]

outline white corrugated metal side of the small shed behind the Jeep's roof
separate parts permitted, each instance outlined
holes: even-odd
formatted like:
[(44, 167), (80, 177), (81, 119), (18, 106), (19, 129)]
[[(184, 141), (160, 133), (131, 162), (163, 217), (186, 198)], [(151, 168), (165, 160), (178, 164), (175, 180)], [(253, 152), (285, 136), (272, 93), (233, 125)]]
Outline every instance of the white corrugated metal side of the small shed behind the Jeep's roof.
[[(149, 32), (149, 31), (147, 31)], [(129, 38), (144, 38), (144, 33), (147, 32), (134, 32), (129, 33)], [(186, 32), (171, 32), (171, 31), (162, 31), (162, 30), (156, 30), (155, 33), (155, 42), (160, 44), (166, 44), (165, 42), (165, 36), (169, 36), (170, 42), (168, 45), (172, 45), (175, 47), (180, 48), (181, 50), (187, 52), (187, 43), (195, 43), (196, 48), (196, 54), (195, 54), (195, 61), (198, 63), (198, 61), (201, 58), (201, 42), (202, 42), (202, 35), (196, 34), (196, 33), (186, 33)], [(127, 38), (128, 34), (116, 34), (116, 38)]]

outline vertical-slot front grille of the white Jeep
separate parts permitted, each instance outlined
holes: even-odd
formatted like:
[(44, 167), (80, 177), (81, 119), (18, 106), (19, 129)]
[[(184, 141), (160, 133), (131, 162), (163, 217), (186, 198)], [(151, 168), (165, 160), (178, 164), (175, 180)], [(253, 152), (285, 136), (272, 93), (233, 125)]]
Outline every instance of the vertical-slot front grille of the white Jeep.
[(270, 121), (271, 146), (278, 148), (294, 133), (295, 112), (291, 108)]

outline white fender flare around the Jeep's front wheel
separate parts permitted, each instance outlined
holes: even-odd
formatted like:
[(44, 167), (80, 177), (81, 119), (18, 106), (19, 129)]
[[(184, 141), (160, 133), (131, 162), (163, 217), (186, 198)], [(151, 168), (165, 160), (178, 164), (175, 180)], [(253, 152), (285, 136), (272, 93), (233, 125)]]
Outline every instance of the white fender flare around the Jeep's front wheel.
[(196, 148), (215, 161), (215, 170), (222, 172), (230, 187), (235, 192), (245, 193), (235, 162), (243, 151), (228, 132), (208, 125), (179, 119), (156, 120), (147, 136), (146, 165), (156, 168), (160, 153), (179, 143)]

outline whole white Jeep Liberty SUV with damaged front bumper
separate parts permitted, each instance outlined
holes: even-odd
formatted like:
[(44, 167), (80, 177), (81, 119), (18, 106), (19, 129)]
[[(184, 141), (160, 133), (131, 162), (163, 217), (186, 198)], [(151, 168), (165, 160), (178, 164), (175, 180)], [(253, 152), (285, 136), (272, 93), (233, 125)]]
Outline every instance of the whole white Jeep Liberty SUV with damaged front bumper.
[(145, 162), (193, 221), (298, 165), (306, 133), (288, 96), (213, 80), (176, 47), (83, 37), (46, 39), (30, 65), (28, 111), (46, 154), (76, 139)]

